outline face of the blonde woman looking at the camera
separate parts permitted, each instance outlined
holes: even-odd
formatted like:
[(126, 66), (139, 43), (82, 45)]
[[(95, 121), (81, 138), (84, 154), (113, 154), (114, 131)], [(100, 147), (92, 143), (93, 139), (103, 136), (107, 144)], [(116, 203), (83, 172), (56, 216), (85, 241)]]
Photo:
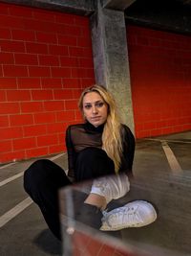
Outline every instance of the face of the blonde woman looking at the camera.
[(108, 105), (97, 92), (88, 92), (83, 98), (83, 114), (97, 128), (107, 120)]

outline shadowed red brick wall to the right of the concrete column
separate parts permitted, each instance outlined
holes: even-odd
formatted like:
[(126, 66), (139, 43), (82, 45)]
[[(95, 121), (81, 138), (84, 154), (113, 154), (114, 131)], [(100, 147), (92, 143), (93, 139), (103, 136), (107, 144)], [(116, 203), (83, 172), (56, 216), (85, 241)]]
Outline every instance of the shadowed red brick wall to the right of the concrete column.
[(191, 129), (191, 36), (127, 27), (136, 136)]

